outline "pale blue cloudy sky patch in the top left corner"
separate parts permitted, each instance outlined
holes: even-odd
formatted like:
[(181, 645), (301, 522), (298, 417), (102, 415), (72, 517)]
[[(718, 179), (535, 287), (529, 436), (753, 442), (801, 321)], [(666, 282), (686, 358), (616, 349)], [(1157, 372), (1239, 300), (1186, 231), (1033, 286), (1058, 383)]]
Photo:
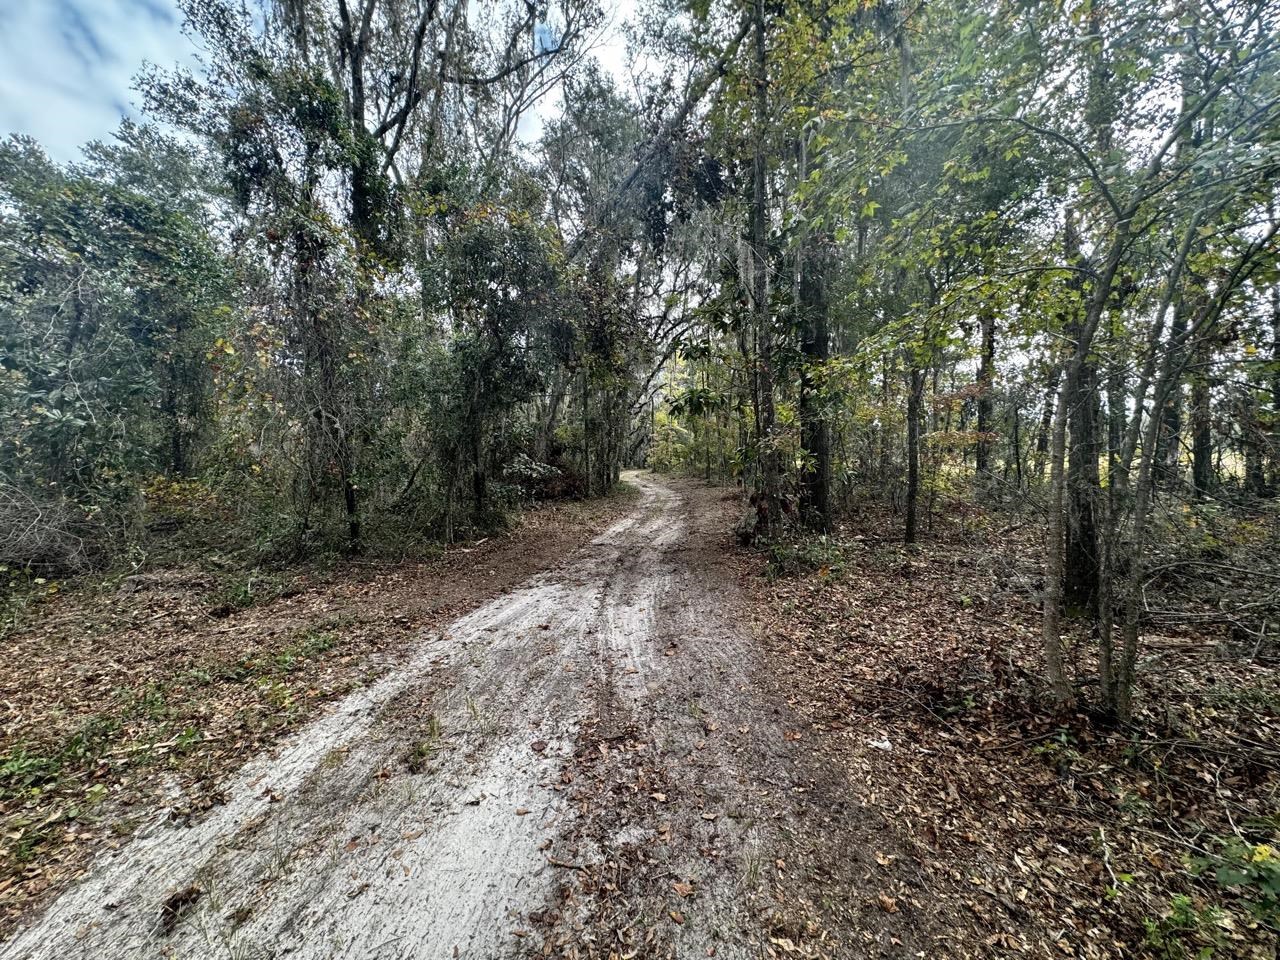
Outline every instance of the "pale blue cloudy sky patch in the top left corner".
[(195, 52), (173, 0), (0, 0), (0, 136), (29, 133), (58, 160), (137, 116), (143, 61)]

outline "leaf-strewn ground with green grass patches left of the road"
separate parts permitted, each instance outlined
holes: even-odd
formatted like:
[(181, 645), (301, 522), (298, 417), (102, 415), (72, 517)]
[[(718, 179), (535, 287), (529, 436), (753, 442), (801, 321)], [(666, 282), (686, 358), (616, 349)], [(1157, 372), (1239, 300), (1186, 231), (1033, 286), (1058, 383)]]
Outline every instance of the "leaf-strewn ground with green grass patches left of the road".
[(0, 639), (0, 936), (143, 824), (224, 803), (246, 760), (563, 561), (636, 495), (539, 507), (430, 562), (58, 585)]

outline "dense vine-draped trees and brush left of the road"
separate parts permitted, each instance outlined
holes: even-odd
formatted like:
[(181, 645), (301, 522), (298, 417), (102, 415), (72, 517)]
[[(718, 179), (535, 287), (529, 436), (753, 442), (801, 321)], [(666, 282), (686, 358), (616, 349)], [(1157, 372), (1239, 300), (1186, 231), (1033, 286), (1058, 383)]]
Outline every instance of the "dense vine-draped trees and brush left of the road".
[(563, 230), (632, 140), (516, 150), (549, 87), (599, 83), (599, 13), (187, 14), (205, 69), (140, 79), (155, 124), (67, 168), (5, 147), (6, 558), (91, 562), (160, 504), (273, 553), (404, 549), (556, 463), (608, 486), (637, 292)]

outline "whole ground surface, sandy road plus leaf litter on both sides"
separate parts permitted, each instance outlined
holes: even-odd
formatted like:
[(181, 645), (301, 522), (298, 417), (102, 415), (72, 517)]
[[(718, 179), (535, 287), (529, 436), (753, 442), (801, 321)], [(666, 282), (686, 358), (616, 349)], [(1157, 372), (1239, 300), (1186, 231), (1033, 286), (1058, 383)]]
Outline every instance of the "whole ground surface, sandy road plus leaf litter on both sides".
[(244, 609), (47, 602), (0, 959), (1274, 956), (1183, 861), (1275, 810), (1271, 667), (1148, 637), (1162, 714), (1098, 733), (1036, 707), (1016, 530), (767, 557), (736, 493), (631, 483)]

